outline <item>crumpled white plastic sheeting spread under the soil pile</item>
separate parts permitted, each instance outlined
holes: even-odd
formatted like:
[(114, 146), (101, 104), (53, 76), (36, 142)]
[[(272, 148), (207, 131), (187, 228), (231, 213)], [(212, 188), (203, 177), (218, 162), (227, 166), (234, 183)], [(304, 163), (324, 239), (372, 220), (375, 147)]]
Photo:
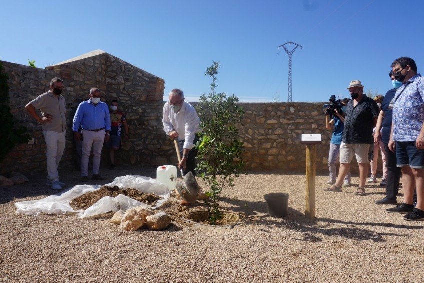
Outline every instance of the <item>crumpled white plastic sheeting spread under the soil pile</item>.
[(164, 198), (164, 200), (157, 201), (156, 206), (151, 207), (148, 204), (144, 204), (127, 196), (118, 195), (115, 198), (103, 197), (98, 202), (87, 208), (85, 211), (82, 209), (74, 210), (70, 206), (72, 199), (87, 192), (96, 191), (100, 188), (99, 185), (76, 185), (63, 193), (51, 195), (40, 200), (17, 202), (15, 203), (17, 208), (16, 213), (38, 215), (40, 213), (65, 214), (66, 212), (78, 212), (80, 217), (88, 217), (109, 211), (118, 211), (119, 209), (127, 210), (128, 208), (140, 205), (145, 205), (146, 208), (155, 209), (166, 202), (166, 199), (170, 197), (168, 186), (150, 177), (138, 175), (120, 176), (116, 177), (113, 182), (104, 186), (118, 186), (120, 189), (134, 188), (143, 193), (156, 194)]

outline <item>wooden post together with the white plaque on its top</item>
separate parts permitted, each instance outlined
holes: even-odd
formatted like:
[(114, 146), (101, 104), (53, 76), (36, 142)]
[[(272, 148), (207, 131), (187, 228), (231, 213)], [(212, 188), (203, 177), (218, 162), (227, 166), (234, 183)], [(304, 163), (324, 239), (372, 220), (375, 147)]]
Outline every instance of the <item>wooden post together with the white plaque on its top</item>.
[(302, 134), (302, 143), (306, 144), (306, 196), (305, 216), (315, 218), (315, 145), (321, 143), (320, 134)]

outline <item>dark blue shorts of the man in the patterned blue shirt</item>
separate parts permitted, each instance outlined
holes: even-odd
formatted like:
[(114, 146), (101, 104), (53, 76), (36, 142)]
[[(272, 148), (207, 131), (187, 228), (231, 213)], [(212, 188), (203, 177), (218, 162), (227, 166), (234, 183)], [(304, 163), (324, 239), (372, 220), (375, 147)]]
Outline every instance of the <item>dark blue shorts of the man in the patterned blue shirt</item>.
[(396, 141), (395, 152), (397, 167), (424, 168), (424, 149), (417, 149), (415, 141)]

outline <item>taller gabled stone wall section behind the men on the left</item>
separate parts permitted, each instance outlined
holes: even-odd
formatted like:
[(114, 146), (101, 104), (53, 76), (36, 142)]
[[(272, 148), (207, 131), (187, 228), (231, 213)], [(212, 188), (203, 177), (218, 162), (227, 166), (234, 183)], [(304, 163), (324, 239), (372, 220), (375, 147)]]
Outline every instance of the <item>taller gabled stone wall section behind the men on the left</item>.
[[(66, 149), (60, 164), (69, 168), (75, 164), (72, 120), (79, 103), (88, 99), (89, 90), (98, 87), (102, 101), (120, 102), (127, 115), (130, 138), (123, 141), (117, 156), (120, 163), (166, 163), (163, 153), (166, 135), (161, 126), (164, 80), (132, 66), (105, 52), (94, 53), (79, 60), (66, 61), (46, 69), (1, 62), (9, 74), (10, 108), (17, 122), (26, 126), (33, 138), (28, 144), (18, 145), (0, 164), (0, 174), (11, 171), (45, 170), (45, 142), (41, 125), (25, 110), (25, 105), (49, 90), (50, 80), (58, 76), (64, 80), (66, 98)], [(165, 146), (166, 149), (166, 146)], [(169, 147), (168, 152), (171, 154)], [(165, 156), (165, 157), (164, 157)], [(108, 162), (106, 150), (102, 162)]]

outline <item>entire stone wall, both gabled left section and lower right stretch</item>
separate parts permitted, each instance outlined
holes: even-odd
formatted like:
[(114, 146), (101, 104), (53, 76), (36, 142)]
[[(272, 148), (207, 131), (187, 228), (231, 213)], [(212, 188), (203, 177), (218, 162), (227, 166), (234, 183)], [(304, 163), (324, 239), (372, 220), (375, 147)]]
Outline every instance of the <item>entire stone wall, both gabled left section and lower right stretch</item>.
[[(130, 138), (122, 142), (116, 154), (119, 164), (176, 164), (173, 142), (162, 127), (164, 81), (107, 53), (71, 61), (48, 69), (2, 62), (9, 74), (10, 107), (18, 123), (28, 128), (33, 139), (16, 146), (0, 164), (0, 174), (11, 171), (45, 171), (45, 143), (38, 124), (24, 106), (49, 89), (52, 77), (65, 81), (63, 95), (67, 104), (67, 144), (61, 168), (75, 164), (75, 148), (71, 131), (73, 115), (79, 103), (88, 98), (89, 89), (102, 90), (102, 101), (120, 101), (126, 113)], [(192, 103), (196, 104), (196, 103)], [(327, 157), (331, 132), (325, 129), (323, 103), (240, 103), (245, 115), (240, 125), (240, 137), (245, 145), (247, 170), (305, 172), (306, 145), (301, 134), (319, 133), (322, 143), (316, 145), (316, 169), (328, 173)], [(381, 163), (381, 161), (379, 161)], [(108, 164), (103, 150), (102, 164)], [(353, 173), (357, 171), (352, 162)], [(381, 165), (378, 166), (381, 171)]]

